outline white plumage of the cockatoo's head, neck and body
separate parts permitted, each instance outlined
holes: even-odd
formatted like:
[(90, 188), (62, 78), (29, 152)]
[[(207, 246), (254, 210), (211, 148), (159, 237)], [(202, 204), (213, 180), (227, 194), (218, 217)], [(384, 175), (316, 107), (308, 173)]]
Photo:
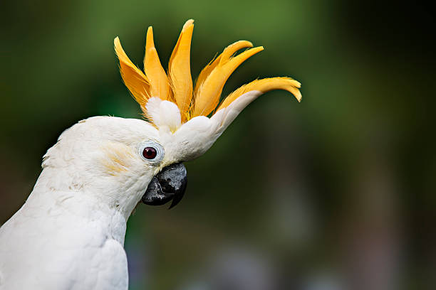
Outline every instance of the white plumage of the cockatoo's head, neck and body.
[[(126, 222), (150, 179), (207, 151), (255, 95), (174, 134), (170, 115), (159, 129), (140, 119), (92, 117), (64, 131), (28, 200), (0, 228), (0, 289), (127, 289)], [(158, 165), (138, 154), (147, 140), (165, 149)]]

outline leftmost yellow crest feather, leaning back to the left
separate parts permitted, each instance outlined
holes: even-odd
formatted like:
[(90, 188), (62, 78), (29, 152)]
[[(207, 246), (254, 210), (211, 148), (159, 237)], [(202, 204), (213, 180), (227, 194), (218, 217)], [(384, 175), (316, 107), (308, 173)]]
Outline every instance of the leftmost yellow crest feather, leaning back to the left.
[(113, 43), (115, 53), (120, 60), (120, 73), (125, 86), (128, 87), (136, 102), (140, 104), (142, 112), (146, 113), (145, 104), (150, 97), (150, 81), (125, 54), (118, 37), (114, 39)]

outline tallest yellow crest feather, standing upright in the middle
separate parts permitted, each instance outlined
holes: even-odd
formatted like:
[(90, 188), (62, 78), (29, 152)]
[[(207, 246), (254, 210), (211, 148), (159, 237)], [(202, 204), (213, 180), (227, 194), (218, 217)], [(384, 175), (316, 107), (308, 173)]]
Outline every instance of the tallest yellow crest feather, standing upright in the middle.
[(192, 77), (190, 68), (191, 38), (194, 29), (192, 19), (186, 21), (179, 39), (175, 45), (168, 65), (170, 86), (182, 119), (187, 118), (187, 112), (192, 100)]

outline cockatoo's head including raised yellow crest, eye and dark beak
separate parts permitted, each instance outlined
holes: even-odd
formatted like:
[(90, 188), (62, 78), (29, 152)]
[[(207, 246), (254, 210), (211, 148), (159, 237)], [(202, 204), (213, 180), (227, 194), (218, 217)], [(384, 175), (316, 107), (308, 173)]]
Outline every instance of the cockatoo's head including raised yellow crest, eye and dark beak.
[[(105, 192), (112, 206), (130, 211), (141, 200), (177, 204), (187, 177), (183, 161), (204, 154), (250, 102), (270, 90), (287, 90), (301, 100), (300, 83), (290, 77), (254, 80), (220, 102), (224, 83), (247, 58), (263, 50), (237, 41), (214, 58), (192, 85), (190, 45), (194, 21), (185, 23), (167, 73), (147, 31), (144, 72), (115, 38), (125, 85), (140, 104), (145, 120), (118, 117), (85, 119), (66, 130), (48, 150), (44, 168), (73, 168), (69, 187)], [(249, 48), (235, 55), (238, 50)], [(75, 166), (71, 166), (71, 163)], [(60, 186), (60, 185), (59, 185)], [(66, 186), (66, 185), (64, 185)]]

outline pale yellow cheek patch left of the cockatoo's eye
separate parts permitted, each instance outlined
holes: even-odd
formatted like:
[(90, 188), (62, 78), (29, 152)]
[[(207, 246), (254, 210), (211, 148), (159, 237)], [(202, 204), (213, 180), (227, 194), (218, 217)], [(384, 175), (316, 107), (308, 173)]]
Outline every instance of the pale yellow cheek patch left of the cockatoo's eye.
[(100, 164), (103, 171), (111, 176), (118, 176), (127, 172), (134, 160), (134, 153), (130, 147), (120, 143), (105, 144), (102, 147), (103, 156)]

